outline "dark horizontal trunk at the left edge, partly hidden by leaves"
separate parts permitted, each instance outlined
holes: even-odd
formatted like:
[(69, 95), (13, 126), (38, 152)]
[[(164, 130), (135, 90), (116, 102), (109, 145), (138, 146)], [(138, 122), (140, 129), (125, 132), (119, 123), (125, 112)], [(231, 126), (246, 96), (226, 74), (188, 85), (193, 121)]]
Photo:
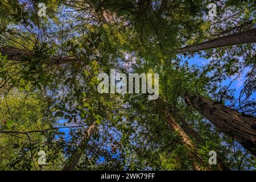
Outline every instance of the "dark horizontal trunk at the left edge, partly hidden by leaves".
[[(28, 57), (32, 56), (32, 53), (29, 51), (24, 51), (22, 49), (13, 48), (13, 47), (0, 47), (0, 52), (3, 56), (7, 56), (9, 60), (15, 61), (26, 61)], [(52, 64), (64, 64), (64, 63), (75, 63), (82, 62), (84, 60), (74, 57), (63, 57), (63, 58), (52, 58), (50, 62)]]

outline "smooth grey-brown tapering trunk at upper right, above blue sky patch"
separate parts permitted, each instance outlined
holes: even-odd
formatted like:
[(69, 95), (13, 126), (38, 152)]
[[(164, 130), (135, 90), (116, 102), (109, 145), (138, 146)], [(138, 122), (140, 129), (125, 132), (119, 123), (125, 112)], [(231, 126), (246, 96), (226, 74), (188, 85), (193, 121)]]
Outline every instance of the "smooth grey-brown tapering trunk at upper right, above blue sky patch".
[(183, 52), (195, 52), (205, 49), (212, 49), (225, 46), (233, 46), (238, 44), (246, 44), (256, 42), (256, 28), (252, 30), (247, 30), (239, 32), (237, 34), (232, 34), (228, 36), (223, 36), (221, 38), (209, 40), (200, 44), (195, 44), (192, 46), (177, 49), (177, 53)]

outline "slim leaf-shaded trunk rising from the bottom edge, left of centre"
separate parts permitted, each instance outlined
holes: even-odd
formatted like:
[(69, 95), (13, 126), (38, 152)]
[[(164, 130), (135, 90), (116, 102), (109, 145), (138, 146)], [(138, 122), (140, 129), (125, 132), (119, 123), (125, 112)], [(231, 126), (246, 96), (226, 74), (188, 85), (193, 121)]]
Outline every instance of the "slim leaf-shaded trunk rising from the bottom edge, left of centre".
[(85, 137), (82, 138), (79, 146), (77, 146), (75, 150), (72, 151), (71, 156), (67, 159), (67, 162), (65, 162), (62, 171), (73, 171), (76, 168), (77, 164), (79, 164), (79, 160), (81, 159), (82, 152), (84, 151), (88, 140), (90, 139), (90, 137), (92, 137), (92, 134), (94, 133), (94, 131), (96, 131), (96, 129), (96, 124), (93, 124), (89, 127), (89, 129), (86, 131)]

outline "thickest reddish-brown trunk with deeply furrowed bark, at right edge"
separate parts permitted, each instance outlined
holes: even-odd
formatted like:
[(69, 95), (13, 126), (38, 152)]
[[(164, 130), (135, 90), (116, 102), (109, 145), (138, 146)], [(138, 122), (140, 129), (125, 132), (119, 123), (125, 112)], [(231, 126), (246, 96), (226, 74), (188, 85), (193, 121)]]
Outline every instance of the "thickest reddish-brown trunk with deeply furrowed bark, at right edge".
[(256, 119), (239, 113), (221, 103), (208, 98), (184, 94), (184, 100), (193, 106), (220, 131), (241, 143), (243, 147), (256, 155)]

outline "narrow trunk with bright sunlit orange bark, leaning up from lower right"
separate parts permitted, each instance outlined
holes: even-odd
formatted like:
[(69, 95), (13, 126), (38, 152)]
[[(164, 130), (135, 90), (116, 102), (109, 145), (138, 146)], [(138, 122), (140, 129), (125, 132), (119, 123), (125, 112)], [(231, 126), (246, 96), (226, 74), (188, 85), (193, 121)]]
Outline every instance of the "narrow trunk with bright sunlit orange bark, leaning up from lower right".
[[(166, 106), (161, 100), (156, 100), (156, 105), (160, 108)], [(183, 144), (189, 148), (188, 155), (192, 160), (195, 160), (195, 162), (192, 162), (193, 169), (196, 171), (201, 171), (200, 166), (205, 166), (205, 164), (201, 161), (202, 160), (201, 157), (197, 154), (196, 146), (192, 143), (191, 139), (189, 139), (188, 135), (180, 127), (180, 125), (175, 121), (175, 119), (170, 115), (170, 113), (168, 113), (167, 109), (161, 110), (161, 113), (163, 113), (164, 116), (166, 117), (166, 121), (170, 126), (170, 129), (173, 131), (177, 131), (181, 137), (181, 141), (183, 142)], [(209, 169), (208, 167), (205, 168), (205, 170), (208, 170), (208, 169)]]

